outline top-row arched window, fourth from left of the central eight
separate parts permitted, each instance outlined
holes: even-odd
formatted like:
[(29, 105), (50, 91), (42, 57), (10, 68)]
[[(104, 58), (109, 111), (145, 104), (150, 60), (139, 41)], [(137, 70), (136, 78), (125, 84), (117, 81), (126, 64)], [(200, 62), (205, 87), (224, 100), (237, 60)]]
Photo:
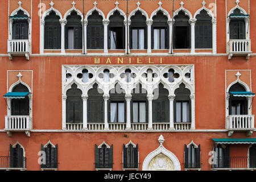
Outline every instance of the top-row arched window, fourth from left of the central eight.
[(115, 11), (109, 17), (109, 49), (125, 48), (125, 26), (123, 19), (123, 16), (118, 11)]

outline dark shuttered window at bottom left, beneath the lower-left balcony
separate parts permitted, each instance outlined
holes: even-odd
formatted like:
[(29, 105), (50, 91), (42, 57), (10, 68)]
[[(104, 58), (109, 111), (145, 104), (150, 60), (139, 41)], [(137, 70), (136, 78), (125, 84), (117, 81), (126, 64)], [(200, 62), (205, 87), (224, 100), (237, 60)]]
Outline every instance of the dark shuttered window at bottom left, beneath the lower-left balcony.
[(26, 158), (23, 156), (23, 148), (16, 144), (10, 144), (10, 168), (26, 168)]

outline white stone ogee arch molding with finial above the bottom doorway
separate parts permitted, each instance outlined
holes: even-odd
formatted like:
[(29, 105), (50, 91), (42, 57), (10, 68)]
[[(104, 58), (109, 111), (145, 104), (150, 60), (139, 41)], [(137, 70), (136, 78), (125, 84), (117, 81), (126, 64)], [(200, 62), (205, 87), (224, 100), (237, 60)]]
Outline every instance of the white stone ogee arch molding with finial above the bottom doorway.
[(160, 146), (156, 150), (152, 151), (150, 154), (148, 154), (146, 156), (146, 158), (144, 159), (143, 164), (142, 164), (142, 171), (148, 171), (148, 165), (150, 164), (151, 160), (159, 154), (163, 154), (171, 160), (171, 162), (174, 164), (175, 171), (181, 170), (179, 160), (171, 151), (168, 151), (166, 148), (164, 148), (163, 142), (164, 142), (164, 138), (162, 135), (160, 135), (160, 137), (159, 137)]

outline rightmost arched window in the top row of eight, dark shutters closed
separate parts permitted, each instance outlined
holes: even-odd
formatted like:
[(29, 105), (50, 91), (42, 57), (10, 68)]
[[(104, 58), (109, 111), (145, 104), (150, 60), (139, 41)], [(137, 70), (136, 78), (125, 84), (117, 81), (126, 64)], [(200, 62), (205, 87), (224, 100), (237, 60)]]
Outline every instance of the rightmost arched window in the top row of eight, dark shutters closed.
[(195, 48), (212, 48), (212, 17), (205, 10), (196, 15)]

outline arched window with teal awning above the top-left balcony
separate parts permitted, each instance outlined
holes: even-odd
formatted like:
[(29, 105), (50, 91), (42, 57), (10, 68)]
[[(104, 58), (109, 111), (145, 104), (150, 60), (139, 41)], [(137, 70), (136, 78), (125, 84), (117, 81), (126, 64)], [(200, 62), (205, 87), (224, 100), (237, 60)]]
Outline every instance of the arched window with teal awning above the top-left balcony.
[(28, 16), (19, 10), (11, 18), (13, 19), (13, 39), (28, 39)]

